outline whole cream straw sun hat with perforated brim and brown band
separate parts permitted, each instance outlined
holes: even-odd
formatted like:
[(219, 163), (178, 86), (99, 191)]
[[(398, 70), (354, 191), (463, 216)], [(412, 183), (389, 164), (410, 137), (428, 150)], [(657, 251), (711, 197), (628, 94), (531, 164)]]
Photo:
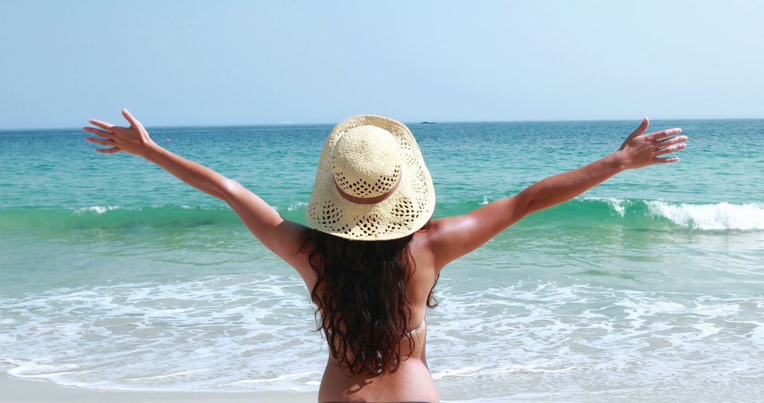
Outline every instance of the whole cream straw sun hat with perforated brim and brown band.
[(434, 209), (432, 178), (406, 125), (360, 114), (332, 129), (308, 203), (308, 224), (351, 240), (391, 240), (419, 230)]

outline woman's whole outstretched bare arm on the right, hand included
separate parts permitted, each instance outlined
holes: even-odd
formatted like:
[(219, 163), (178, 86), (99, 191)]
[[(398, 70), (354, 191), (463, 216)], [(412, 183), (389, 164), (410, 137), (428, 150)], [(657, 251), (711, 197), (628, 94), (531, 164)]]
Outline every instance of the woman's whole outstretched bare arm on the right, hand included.
[(567, 202), (626, 169), (657, 163), (675, 163), (678, 157), (662, 157), (686, 147), (681, 129), (645, 134), (649, 121), (642, 124), (609, 156), (587, 166), (564, 172), (530, 185), (523, 192), (484, 205), (458, 217), (440, 218), (428, 231), (430, 250), (436, 269), (477, 249), (528, 214)]

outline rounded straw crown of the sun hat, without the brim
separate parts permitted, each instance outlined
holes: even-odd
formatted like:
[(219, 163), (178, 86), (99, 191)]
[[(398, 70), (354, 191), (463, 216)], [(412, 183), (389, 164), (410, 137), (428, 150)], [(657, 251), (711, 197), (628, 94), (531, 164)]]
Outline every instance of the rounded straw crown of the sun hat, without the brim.
[(358, 198), (387, 194), (400, 178), (400, 145), (389, 131), (374, 125), (352, 127), (332, 150), (335, 184)]

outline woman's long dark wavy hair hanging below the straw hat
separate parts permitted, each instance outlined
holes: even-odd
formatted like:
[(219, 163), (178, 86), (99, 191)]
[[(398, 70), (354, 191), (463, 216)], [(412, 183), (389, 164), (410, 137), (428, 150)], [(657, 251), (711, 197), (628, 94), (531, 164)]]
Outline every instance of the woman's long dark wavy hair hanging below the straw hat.
[[(422, 230), (428, 228), (429, 221)], [(413, 350), (406, 305), (407, 268), (415, 264), (409, 250), (412, 238), (347, 240), (312, 233), (315, 246), (309, 262), (317, 281), (310, 297), (316, 304), (316, 331), (325, 335), (332, 357), (353, 375), (396, 372), (410, 356), (401, 353), (402, 341)], [(438, 305), (434, 289), (435, 284), (428, 308)]]

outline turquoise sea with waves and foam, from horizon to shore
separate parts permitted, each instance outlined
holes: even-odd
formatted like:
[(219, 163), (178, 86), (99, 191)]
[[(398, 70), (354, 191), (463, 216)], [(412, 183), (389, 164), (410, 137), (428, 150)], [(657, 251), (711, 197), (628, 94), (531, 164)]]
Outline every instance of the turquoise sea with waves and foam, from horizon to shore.
[[(410, 124), (435, 217), (616, 150), (639, 122)], [(448, 266), (445, 401), (750, 401), (764, 392), (764, 121), (655, 121), (623, 172)], [(150, 129), (304, 222), (331, 126)], [(222, 202), (76, 130), (0, 132), (0, 365), (61, 385), (317, 391), (309, 295)], [(169, 141), (168, 141), (169, 140)], [(477, 399), (477, 400), (475, 400)]]

